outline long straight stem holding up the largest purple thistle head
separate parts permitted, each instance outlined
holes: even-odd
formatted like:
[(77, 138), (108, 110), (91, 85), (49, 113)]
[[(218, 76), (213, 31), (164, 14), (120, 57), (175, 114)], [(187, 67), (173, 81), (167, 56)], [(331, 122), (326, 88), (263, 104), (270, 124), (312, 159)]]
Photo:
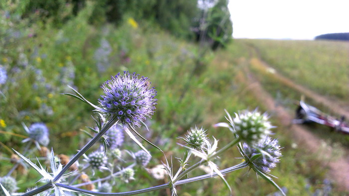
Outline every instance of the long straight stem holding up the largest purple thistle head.
[(100, 132), (98, 132), (98, 134), (92, 138), (70, 161), (67, 165), (64, 166), (64, 168), (62, 169), (61, 172), (59, 172), (59, 174), (53, 179), (53, 182), (57, 182), (64, 174), (65, 171), (68, 170), (68, 168), (70, 166), (72, 166), (75, 161), (77, 161), (89, 148), (91, 148), (91, 146), (96, 143), (103, 135), (105, 132), (107, 132), (107, 130), (109, 130), (110, 127), (112, 127), (116, 122), (118, 121), (118, 119), (116, 117), (112, 117), (103, 127), (102, 130)]

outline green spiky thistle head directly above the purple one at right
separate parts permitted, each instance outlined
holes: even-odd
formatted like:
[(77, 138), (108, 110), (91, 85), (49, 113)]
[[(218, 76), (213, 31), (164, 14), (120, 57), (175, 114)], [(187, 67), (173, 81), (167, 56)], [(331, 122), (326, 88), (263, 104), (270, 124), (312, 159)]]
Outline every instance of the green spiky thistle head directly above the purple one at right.
[(257, 144), (260, 140), (271, 134), (273, 126), (268, 121), (266, 114), (260, 114), (257, 110), (243, 111), (236, 114), (230, 122), (238, 137), (249, 145)]

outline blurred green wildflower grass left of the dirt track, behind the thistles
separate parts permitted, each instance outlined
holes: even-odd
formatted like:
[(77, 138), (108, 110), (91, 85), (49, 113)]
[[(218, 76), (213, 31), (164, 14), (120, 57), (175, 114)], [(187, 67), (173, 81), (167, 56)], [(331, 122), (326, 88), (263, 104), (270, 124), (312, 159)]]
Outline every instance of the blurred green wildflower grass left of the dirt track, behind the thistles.
[[(1, 45), (2, 65), (6, 67), (12, 82), (0, 86), (1, 92), (7, 99), (1, 99), (0, 119), (6, 123), (1, 130), (25, 135), (21, 122), (29, 125), (32, 122), (43, 121), (50, 129), (51, 143), (57, 154), (73, 154), (80, 149), (88, 139), (81, 129), (94, 126), (91, 115), (92, 109), (77, 99), (60, 95), (69, 90), (62, 87), (60, 74), (64, 67), (72, 63), (75, 68), (73, 80), (79, 92), (97, 103), (102, 94), (100, 86), (118, 72), (130, 71), (150, 78), (152, 86), (158, 91), (158, 105), (151, 123), (150, 141), (160, 145), (166, 151), (168, 158), (173, 156), (174, 166), (178, 163), (174, 157), (181, 156), (183, 149), (176, 146), (176, 137), (183, 135), (193, 126), (203, 126), (208, 129), (208, 135), (219, 139), (219, 147), (231, 141), (232, 133), (226, 129), (215, 129), (211, 125), (225, 121), (224, 109), (230, 113), (245, 108), (259, 107), (261, 111), (268, 111), (263, 103), (256, 101), (248, 91), (246, 85), (239, 83), (241, 69), (248, 66), (250, 48), (241, 40), (234, 40), (226, 50), (215, 53), (205, 51), (194, 43), (188, 43), (160, 30), (154, 24), (138, 21), (139, 27), (134, 28), (125, 21), (117, 28), (112, 25), (91, 26), (87, 19), (91, 9), (83, 10), (60, 29), (36, 21), (29, 28), (22, 21), (18, 27), (23, 32), (29, 30), (36, 34), (25, 37), (11, 45)], [(10, 27), (2, 26), (1, 30)], [(108, 55), (110, 66), (105, 72), (98, 72), (94, 53), (100, 47), (102, 39), (108, 40), (112, 53)], [(317, 50), (317, 48), (314, 48)], [(21, 72), (12, 72), (18, 66), (19, 54), (25, 54), (31, 66), (20, 67)], [(291, 60), (289, 60), (291, 61)], [(292, 63), (290, 63), (292, 64)], [(285, 66), (289, 66), (288, 64)], [(37, 70), (42, 71), (44, 81), (37, 78)], [(39, 88), (33, 88), (38, 84)], [(48, 90), (44, 84), (50, 84)], [(263, 83), (268, 86), (269, 83)], [(271, 87), (272, 88), (272, 87)], [(286, 96), (286, 94), (282, 94)], [(298, 95), (294, 96), (295, 98)], [(53, 110), (52, 115), (40, 111), (45, 103)], [(326, 170), (320, 167), (321, 159), (309, 155), (302, 148), (292, 148), (293, 141), (289, 140), (287, 127), (278, 126), (275, 137), (280, 138), (284, 146), (284, 157), (281, 163), (272, 171), (279, 177), (275, 181), (281, 187), (287, 187), (289, 195), (308, 195), (306, 186), (314, 192), (317, 185), (321, 185)], [(141, 134), (147, 134), (140, 130)], [(1, 134), (1, 133), (0, 133)], [(1, 134), (0, 142), (9, 148), (20, 149), (22, 138)], [(160, 142), (159, 142), (160, 141)], [(164, 144), (164, 141), (165, 144)], [(175, 147), (174, 147), (175, 146)], [(149, 146), (146, 146), (149, 147)], [(131, 141), (126, 149), (136, 151)], [(163, 154), (150, 148), (153, 160), (150, 166), (155, 166), (163, 160)], [(10, 153), (0, 147), (1, 156), (9, 157)], [(39, 156), (38, 153), (33, 156)], [(241, 162), (237, 149), (231, 149), (217, 160), (220, 168), (232, 166)], [(197, 158), (196, 158), (197, 159)], [(0, 176), (11, 168), (8, 161), (0, 162)], [(138, 169), (137, 180), (130, 184), (120, 183), (114, 191), (128, 191), (147, 186), (158, 185), (143, 169)], [(227, 175), (229, 184), (237, 196), (267, 195), (276, 191), (274, 187), (259, 178), (257, 181), (253, 172), (244, 169)], [(196, 174), (203, 174), (197, 171)], [(39, 176), (30, 170), (27, 175), (14, 174), (18, 180), (19, 191), (24, 191), (29, 185), (39, 180)], [(192, 175), (193, 176), (193, 175)], [(95, 177), (92, 177), (92, 179)], [(32, 180), (31, 180), (32, 179)], [(227, 190), (219, 179), (209, 179), (203, 182), (180, 186), (180, 195), (224, 195)], [(165, 191), (155, 192), (154, 195), (164, 195)]]

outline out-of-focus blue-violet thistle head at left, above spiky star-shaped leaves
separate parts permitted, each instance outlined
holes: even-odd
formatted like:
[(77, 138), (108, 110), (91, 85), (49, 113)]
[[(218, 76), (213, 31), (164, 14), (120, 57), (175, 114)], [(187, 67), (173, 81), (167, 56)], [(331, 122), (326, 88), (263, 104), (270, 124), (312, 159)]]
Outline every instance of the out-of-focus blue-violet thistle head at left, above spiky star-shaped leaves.
[(43, 146), (47, 146), (49, 143), (48, 128), (42, 122), (36, 122), (29, 126), (29, 137)]

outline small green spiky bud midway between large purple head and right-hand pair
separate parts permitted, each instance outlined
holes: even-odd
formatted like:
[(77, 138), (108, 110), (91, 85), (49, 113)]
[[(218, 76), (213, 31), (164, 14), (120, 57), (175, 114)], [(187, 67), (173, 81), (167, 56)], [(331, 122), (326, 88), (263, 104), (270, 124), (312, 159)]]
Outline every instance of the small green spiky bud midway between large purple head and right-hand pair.
[(205, 141), (207, 140), (206, 130), (202, 127), (199, 129), (195, 126), (195, 128), (190, 128), (188, 134), (185, 135), (185, 138), (182, 138), (191, 148), (202, 150)]

